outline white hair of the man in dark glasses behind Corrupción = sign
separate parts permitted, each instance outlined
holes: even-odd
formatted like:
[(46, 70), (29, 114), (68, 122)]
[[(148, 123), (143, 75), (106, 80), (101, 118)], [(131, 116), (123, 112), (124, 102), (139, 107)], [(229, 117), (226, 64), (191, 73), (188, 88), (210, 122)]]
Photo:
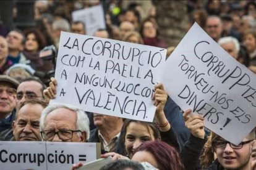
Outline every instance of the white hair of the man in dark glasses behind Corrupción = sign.
[[(82, 132), (86, 132), (87, 140), (88, 140), (90, 137), (90, 127), (89, 127), (90, 121), (88, 119), (87, 114), (85, 113), (85, 111), (82, 110), (82, 108), (75, 107), (74, 105), (69, 105), (69, 104), (65, 104), (65, 103), (54, 103), (53, 105), (48, 105), (48, 107), (46, 107), (42, 111), (41, 118), (40, 118), (40, 131), (45, 130), (46, 116), (49, 113), (51, 113), (51, 111), (54, 111), (58, 108), (67, 108), (67, 109), (75, 111), (75, 113), (77, 113), (77, 129)], [(81, 135), (80, 133), (77, 133), (77, 134)]]

